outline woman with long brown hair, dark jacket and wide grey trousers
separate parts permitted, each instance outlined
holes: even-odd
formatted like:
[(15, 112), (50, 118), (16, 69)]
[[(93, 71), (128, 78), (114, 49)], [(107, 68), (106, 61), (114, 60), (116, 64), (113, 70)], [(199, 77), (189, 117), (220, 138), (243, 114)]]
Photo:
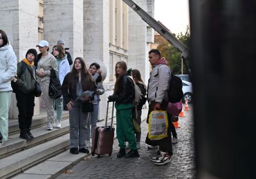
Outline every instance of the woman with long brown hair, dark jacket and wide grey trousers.
[(64, 104), (69, 110), (71, 154), (78, 154), (79, 151), (89, 154), (85, 144), (89, 112), (82, 112), (82, 105), (89, 98), (84, 97), (83, 101), (77, 98), (82, 92), (93, 91), (94, 87), (93, 76), (86, 69), (84, 60), (77, 57), (71, 72), (66, 74), (62, 84)]

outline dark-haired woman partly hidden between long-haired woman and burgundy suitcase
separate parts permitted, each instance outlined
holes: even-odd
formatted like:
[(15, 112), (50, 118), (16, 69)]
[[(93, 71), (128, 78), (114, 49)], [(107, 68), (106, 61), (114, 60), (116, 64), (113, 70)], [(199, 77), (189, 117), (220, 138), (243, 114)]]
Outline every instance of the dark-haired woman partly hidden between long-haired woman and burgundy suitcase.
[(105, 89), (102, 85), (102, 75), (100, 70), (100, 65), (98, 63), (91, 63), (89, 67), (89, 72), (93, 76), (95, 81), (96, 89), (94, 90), (94, 100), (93, 100), (93, 112), (91, 112), (89, 117), (89, 123), (87, 125), (88, 133), (86, 134), (86, 146), (89, 147), (91, 145), (90, 142), (90, 124), (91, 124), (91, 136), (93, 136), (93, 131), (97, 127), (98, 122), (98, 110), (99, 110), (99, 102), (100, 95), (104, 94)]

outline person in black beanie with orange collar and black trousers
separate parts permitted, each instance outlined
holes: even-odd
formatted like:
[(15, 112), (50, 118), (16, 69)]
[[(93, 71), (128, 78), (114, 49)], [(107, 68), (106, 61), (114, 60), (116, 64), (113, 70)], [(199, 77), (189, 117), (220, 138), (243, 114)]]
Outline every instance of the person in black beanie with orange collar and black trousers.
[[(17, 64), (17, 81), (18, 90), (15, 93), (17, 107), (19, 110), (19, 138), (30, 140), (34, 138), (30, 132), (32, 118), (34, 114), (35, 103), (35, 78), (36, 68), (34, 61), (37, 59), (37, 50), (29, 49), (26, 52), (26, 58)], [(25, 67), (24, 67), (25, 65)], [(33, 76), (32, 76), (33, 75)]]

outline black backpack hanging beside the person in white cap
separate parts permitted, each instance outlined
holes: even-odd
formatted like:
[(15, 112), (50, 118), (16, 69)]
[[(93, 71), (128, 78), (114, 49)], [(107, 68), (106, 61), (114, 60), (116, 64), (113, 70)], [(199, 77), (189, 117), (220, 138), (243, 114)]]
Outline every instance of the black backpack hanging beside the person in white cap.
[(62, 96), (62, 85), (60, 85), (60, 80), (57, 78), (55, 70), (51, 70), (50, 84), (48, 95), (52, 99), (57, 99)]

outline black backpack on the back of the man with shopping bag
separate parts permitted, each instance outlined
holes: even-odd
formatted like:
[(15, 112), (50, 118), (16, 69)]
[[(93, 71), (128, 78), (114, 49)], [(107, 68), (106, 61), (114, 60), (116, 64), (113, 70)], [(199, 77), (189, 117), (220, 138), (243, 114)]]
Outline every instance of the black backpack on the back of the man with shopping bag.
[(168, 101), (178, 103), (183, 98), (181, 78), (172, 73), (172, 78), (168, 87)]

